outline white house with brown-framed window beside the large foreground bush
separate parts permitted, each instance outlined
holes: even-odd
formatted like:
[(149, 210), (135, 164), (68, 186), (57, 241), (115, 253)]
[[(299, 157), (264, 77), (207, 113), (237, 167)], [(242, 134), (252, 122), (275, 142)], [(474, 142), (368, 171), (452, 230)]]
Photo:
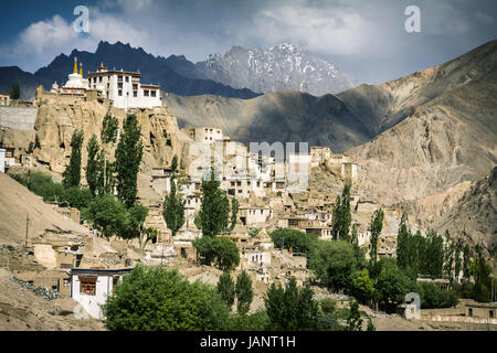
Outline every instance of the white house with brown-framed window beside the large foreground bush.
[(71, 269), (71, 298), (92, 318), (103, 319), (102, 307), (124, 275), (133, 268), (123, 269)]

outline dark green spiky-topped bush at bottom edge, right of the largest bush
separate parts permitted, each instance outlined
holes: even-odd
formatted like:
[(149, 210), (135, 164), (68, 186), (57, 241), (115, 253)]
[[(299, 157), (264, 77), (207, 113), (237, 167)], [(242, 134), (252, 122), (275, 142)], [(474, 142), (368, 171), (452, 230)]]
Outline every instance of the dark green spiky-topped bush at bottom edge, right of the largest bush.
[(269, 329), (275, 331), (306, 331), (319, 328), (319, 306), (313, 299), (309, 285), (297, 288), (294, 277), (285, 289), (272, 284), (264, 298)]

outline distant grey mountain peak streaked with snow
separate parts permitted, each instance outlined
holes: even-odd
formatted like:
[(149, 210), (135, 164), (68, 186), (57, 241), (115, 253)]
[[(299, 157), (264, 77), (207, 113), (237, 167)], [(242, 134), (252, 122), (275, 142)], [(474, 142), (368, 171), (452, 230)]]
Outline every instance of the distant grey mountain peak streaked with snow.
[(292, 43), (277, 44), (266, 51), (233, 46), (224, 55), (210, 54), (197, 67), (213, 81), (261, 93), (292, 89), (321, 96), (358, 84), (334, 64)]

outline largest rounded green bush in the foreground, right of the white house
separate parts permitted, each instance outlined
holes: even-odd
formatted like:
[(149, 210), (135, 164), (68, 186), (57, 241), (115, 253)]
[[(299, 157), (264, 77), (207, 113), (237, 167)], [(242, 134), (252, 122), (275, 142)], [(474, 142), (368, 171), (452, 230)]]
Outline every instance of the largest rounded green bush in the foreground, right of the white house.
[(136, 267), (103, 307), (112, 331), (226, 330), (230, 312), (215, 289), (177, 270)]

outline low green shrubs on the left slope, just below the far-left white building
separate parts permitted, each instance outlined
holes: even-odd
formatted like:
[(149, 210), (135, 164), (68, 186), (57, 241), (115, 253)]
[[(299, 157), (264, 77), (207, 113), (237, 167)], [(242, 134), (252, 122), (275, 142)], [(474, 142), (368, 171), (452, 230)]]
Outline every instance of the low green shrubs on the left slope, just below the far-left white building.
[(29, 171), (25, 174), (12, 174), (11, 176), (34, 194), (42, 196), (44, 202), (60, 202), (63, 199), (64, 186), (53, 182), (52, 176), (47, 174)]

